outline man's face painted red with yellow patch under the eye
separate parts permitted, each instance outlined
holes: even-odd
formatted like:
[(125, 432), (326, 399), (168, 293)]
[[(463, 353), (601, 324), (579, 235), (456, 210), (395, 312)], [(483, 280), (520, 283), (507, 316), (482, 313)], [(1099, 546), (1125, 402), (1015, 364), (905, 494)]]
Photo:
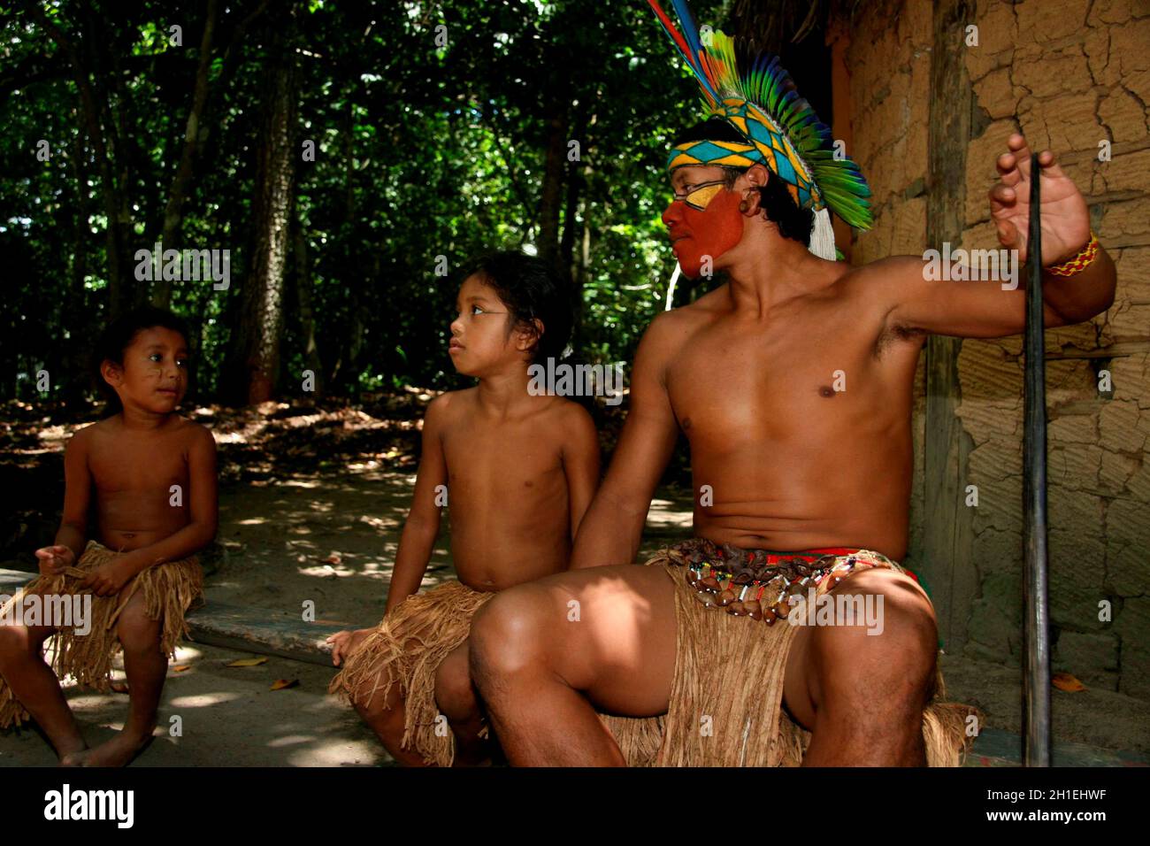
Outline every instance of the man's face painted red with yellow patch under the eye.
[(668, 227), (670, 246), (683, 273), (697, 279), (710, 256), (712, 265), (743, 238), (743, 214), (739, 197), (728, 190), (723, 180), (687, 183), (685, 193), (675, 195), (662, 213)]

